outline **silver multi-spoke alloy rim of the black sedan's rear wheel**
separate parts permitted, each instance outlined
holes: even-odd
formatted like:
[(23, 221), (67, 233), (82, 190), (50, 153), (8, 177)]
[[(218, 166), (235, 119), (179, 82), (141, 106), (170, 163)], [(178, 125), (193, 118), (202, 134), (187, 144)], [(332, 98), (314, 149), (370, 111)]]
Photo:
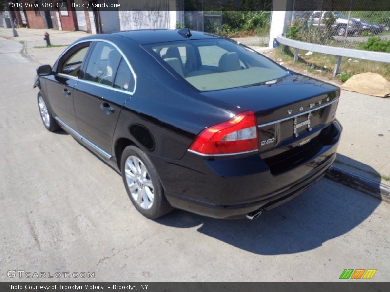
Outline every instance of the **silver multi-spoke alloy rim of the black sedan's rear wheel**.
[(150, 209), (154, 201), (154, 187), (145, 164), (137, 156), (126, 159), (125, 177), (134, 201), (141, 208)]

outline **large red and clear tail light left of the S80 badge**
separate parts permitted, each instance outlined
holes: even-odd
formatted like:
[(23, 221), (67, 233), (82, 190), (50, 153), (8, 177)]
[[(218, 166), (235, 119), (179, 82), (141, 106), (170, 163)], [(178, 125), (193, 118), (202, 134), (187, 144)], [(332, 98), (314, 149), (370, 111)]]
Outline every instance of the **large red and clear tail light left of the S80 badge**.
[(190, 150), (205, 155), (235, 154), (258, 150), (257, 125), (252, 111), (203, 130)]

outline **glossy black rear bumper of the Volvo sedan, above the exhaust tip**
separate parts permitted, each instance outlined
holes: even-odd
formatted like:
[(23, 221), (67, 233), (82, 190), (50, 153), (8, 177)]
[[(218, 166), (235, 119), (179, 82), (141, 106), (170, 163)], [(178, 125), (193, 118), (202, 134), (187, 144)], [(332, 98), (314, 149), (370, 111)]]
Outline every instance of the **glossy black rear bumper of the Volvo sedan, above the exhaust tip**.
[(186, 153), (181, 160), (151, 156), (173, 207), (214, 218), (235, 219), (270, 210), (321, 179), (335, 160), (341, 126), (331, 142), (305, 162), (272, 175), (259, 154), (214, 159)]

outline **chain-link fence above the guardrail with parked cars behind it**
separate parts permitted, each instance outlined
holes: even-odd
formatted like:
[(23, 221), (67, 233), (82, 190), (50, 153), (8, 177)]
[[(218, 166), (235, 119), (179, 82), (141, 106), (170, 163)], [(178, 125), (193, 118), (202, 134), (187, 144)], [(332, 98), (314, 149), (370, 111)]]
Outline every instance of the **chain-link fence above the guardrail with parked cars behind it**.
[(305, 0), (296, 0), (286, 37), (321, 45), (390, 53), (390, 11), (353, 10), (361, 7), (364, 0), (344, 1), (349, 10), (324, 8), (307, 11), (304, 10), (307, 7)]

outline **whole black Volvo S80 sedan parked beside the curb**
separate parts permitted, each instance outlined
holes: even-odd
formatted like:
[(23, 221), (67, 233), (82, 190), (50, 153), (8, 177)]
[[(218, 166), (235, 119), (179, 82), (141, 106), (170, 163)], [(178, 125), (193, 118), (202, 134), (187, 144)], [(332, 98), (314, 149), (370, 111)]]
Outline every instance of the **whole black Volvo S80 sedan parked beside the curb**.
[(120, 172), (151, 219), (174, 207), (254, 219), (318, 181), (336, 156), (339, 88), (228, 38), (89, 36), (37, 74), (44, 126)]

